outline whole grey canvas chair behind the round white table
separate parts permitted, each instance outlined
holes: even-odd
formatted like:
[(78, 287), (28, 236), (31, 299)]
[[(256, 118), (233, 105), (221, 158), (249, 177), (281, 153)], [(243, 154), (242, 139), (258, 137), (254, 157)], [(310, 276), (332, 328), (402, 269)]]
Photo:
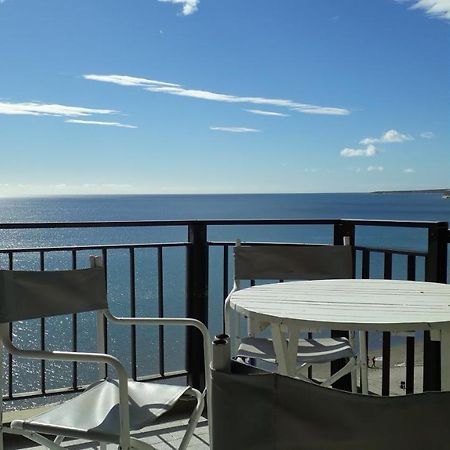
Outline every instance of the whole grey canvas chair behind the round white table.
[[(234, 247), (234, 287), (230, 296), (242, 286), (243, 280), (323, 280), (352, 278), (353, 254), (350, 246), (333, 245), (247, 245)], [(230, 297), (229, 296), (229, 297)], [(225, 316), (230, 318), (229, 297), (225, 302)], [(282, 301), (282, 299), (280, 299)], [(238, 332), (235, 356), (255, 358), (276, 364), (272, 340), (258, 334), (267, 324), (249, 320), (248, 335)], [(232, 323), (226, 320), (227, 332), (231, 335)], [(356, 391), (357, 355), (346, 338), (299, 339), (297, 349), (297, 376), (307, 380), (302, 373), (312, 364), (329, 363), (339, 359), (347, 364), (321, 384), (330, 386), (340, 377), (351, 373), (352, 390)]]

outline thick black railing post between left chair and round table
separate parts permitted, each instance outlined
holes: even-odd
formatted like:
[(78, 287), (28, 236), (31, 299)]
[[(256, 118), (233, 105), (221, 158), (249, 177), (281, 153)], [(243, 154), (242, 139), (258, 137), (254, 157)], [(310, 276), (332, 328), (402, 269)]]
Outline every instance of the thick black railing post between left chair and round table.
[[(186, 262), (186, 315), (208, 325), (208, 242), (203, 222), (188, 225)], [(198, 330), (189, 327), (186, 335), (188, 383), (204, 387), (203, 340)]]

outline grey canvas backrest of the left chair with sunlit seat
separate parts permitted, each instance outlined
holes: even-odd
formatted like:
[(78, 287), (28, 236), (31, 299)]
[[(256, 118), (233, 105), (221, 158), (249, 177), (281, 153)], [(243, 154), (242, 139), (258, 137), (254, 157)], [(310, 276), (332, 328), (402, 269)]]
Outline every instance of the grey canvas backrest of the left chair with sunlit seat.
[(0, 323), (107, 308), (102, 268), (0, 270)]

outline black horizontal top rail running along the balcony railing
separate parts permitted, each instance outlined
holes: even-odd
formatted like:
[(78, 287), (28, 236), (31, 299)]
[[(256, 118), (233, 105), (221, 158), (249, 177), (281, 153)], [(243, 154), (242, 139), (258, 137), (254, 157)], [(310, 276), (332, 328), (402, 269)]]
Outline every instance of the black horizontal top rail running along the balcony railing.
[(51, 229), (51, 228), (121, 228), (155, 226), (205, 225), (353, 225), (431, 228), (446, 226), (448, 222), (419, 220), (376, 219), (201, 219), (201, 220), (138, 220), (138, 221), (93, 221), (93, 222), (10, 222), (0, 223), (0, 230)]

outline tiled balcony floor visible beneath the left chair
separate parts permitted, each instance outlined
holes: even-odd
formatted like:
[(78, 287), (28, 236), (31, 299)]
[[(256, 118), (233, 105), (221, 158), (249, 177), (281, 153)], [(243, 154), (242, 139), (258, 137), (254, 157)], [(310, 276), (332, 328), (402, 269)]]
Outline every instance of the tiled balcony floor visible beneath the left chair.
[[(134, 437), (139, 437), (143, 441), (154, 446), (154, 448), (157, 450), (174, 450), (180, 446), (186, 424), (187, 419), (164, 422), (145, 428), (143, 431), (134, 434)], [(34, 450), (45, 448), (39, 445), (35, 445), (34, 442), (28, 439), (22, 439), (21, 437), (13, 436), (10, 434), (5, 434), (4, 444), (5, 450)], [(68, 439), (63, 443), (63, 446), (71, 450), (84, 450), (96, 448), (96, 443), (82, 441), (79, 439)], [(116, 448), (117, 445), (108, 445), (108, 449)], [(209, 449), (208, 422), (205, 418), (200, 418), (200, 421), (197, 425), (194, 436), (192, 436), (188, 448), (192, 450)]]

